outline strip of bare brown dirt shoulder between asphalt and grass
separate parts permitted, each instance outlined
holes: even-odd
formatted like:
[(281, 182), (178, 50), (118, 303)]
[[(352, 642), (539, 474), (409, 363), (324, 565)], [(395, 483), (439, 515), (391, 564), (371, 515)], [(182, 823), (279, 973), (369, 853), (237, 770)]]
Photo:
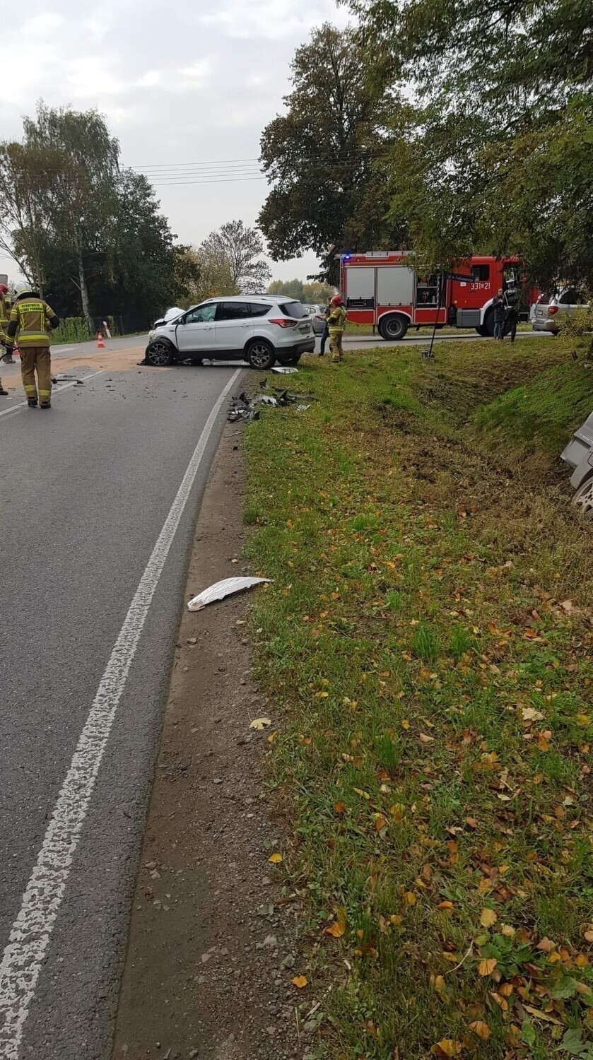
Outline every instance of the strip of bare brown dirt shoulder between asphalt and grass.
[[(241, 561), (241, 427), (227, 426), (204, 497), (186, 600)], [(232, 563), (239, 560), (239, 563)], [(261, 590), (256, 590), (261, 591)], [(114, 1058), (281, 1060), (307, 1053), (294, 912), (262, 750), (277, 721), (252, 681), (248, 596), (184, 608), (134, 898)], [(274, 727), (274, 726), (273, 726)], [(311, 1007), (314, 1001), (311, 1000)], [(301, 1015), (302, 1020), (302, 1015)]]

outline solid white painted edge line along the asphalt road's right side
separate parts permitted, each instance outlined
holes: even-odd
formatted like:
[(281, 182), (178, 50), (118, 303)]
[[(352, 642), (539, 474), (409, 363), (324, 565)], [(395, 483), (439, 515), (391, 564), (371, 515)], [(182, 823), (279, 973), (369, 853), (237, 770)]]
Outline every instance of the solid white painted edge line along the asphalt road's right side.
[(57, 797), (37, 864), (22, 896), (20, 911), (0, 964), (0, 1057), (3, 1060), (18, 1060), (24, 1023), (129, 667), (208, 439), (241, 371), (239, 368), (231, 375), (199, 436), (101, 678)]

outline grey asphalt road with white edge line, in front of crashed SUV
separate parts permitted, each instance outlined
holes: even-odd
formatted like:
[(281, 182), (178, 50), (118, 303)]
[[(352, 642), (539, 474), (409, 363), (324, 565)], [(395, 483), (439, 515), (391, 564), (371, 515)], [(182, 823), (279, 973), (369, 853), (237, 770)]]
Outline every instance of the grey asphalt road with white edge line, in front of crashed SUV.
[(192, 529), (226, 399), (194, 450), (237, 366), (77, 371), (88, 382), (58, 390), (49, 412), (0, 400), (0, 413), (13, 407), (0, 414), (2, 1060), (109, 1057)]

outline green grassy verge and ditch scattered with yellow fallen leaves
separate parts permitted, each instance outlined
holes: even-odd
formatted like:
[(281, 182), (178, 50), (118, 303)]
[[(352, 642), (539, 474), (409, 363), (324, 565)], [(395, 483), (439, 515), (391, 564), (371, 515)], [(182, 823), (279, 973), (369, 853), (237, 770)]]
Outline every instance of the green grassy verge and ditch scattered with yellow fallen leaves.
[(593, 373), (529, 339), (295, 378), (245, 518), (303, 1052), (592, 1057), (592, 530), (556, 453)]

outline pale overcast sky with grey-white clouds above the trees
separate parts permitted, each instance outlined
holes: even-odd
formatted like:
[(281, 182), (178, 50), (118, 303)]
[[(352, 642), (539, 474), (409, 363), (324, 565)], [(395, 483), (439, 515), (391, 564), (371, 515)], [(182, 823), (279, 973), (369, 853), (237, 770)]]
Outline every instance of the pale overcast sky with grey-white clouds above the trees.
[[(97, 107), (179, 241), (199, 243), (225, 220), (255, 223), (260, 132), (282, 109), (295, 49), (327, 20), (347, 21), (333, 0), (32, 0), (16, 50), (5, 41), (0, 135), (20, 139), (39, 99)], [(272, 263), (280, 279), (315, 268), (312, 254)], [(5, 259), (0, 271), (16, 275)]]

